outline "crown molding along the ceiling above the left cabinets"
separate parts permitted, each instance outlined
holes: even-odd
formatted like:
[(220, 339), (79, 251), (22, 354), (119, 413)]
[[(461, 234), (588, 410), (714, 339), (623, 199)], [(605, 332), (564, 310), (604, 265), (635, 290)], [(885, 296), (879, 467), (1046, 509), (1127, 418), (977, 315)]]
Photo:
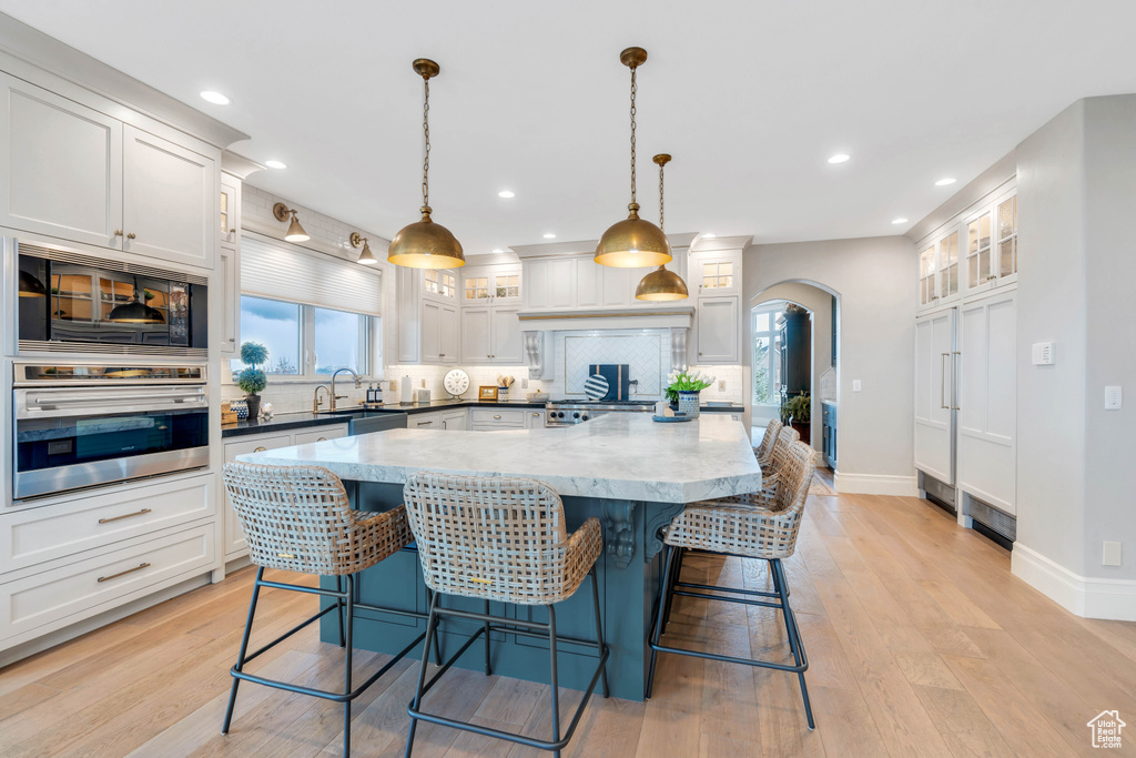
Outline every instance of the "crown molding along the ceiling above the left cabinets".
[[(123, 30), (124, 44), (128, 43), (130, 33)], [(6, 14), (0, 14), (0, 50), (215, 147), (225, 148), (250, 139), (244, 132)]]

